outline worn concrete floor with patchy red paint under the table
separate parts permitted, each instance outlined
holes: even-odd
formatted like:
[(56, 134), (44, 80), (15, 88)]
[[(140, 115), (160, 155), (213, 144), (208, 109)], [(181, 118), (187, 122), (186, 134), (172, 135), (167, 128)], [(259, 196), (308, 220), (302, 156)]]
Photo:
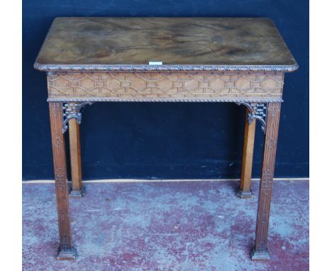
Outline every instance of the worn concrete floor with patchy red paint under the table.
[(54, 184), (23, 184), (23, 270), (309, 270), (309, 182), (275, 181), (269, 262), (253, 262), (253, 199), (238, 182), (86, 184), (70, 199), (76, 261), (55, 260)]

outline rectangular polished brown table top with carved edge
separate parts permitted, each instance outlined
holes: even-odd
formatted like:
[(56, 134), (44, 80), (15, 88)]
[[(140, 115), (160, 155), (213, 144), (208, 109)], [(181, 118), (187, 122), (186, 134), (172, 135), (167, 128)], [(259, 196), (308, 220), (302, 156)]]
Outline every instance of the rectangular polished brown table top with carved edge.
[(297, 62), (268, 18), (60, 17), (35, 68), (292, 72)]

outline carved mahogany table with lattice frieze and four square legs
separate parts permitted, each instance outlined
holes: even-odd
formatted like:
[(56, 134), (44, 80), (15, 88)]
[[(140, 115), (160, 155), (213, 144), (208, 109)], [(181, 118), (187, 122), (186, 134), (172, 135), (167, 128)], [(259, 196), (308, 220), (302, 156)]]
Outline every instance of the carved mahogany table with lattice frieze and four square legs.
[(70, 234), (63, 134), (73, 197), (84, 194), (80, 109), (96, 101), (232, 102), (247, 107), (239, 197), (251, 197), (255, 120), (265, 133), (253, 260), (268, 260), (267, 229), (284, 73), (297, 70), (267, 18), (56, 18), (35, 68), (47, 72), (60, 247)]

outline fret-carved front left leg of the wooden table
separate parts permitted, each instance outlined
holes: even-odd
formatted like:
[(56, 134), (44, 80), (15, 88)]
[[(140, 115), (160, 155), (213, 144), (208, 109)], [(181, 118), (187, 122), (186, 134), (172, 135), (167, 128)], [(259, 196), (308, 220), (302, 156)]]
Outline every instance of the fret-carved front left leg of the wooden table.
[(50, 102), (49, 106), (55, 172), (55, 192), (57, 197), (57, 219), (59, 223), (60, 236), (60, 246), (57, 259), (74, 260), (76, 258), (76, 250), (72, 246), (72, 238), (70, 234), (65, 139), (62, 133), (62, 103)]

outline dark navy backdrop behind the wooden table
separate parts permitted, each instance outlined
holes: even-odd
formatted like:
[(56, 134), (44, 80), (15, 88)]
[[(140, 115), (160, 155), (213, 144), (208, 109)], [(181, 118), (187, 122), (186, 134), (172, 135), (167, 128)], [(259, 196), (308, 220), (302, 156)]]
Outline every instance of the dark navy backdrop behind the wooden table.
[[(46, 78), (33, 62), (57, 16), (272, 18), (299, 64), (284, 79), (275, 177), (309, 176), (309, 1), (23, 0), (23, 179), (53, 176)], [(244, 116), (243, 106), (224, 103), (88, 106), (80, 126), (83, 177), (238, 178)], [(254, 177), (262, 158), (259, 129)]]

